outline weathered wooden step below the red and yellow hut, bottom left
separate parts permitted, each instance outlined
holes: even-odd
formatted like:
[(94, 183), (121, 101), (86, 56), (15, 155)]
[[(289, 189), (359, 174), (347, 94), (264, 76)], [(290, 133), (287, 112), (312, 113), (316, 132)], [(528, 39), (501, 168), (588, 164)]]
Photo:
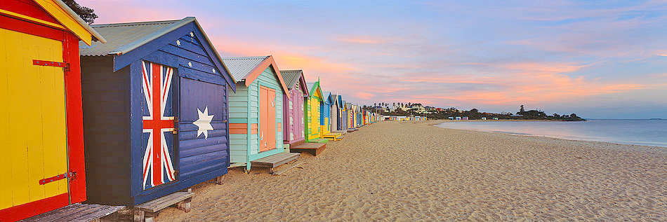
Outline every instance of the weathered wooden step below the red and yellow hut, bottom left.
[(25, 218), (22, 221), (95, 221), (119, 209), (123, 209), (123, 206), (76, 203)]

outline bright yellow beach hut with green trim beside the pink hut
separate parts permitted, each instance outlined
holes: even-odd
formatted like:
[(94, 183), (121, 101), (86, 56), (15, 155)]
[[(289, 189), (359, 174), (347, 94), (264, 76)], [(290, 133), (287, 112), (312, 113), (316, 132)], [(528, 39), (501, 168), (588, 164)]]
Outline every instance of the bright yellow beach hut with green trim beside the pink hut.
[(322, 132), (322, 125), (320, 123), (322, 118), (320, 118), (322, 113), (321, 107), (324, 106), (324, 96), (322, 89), (319, 88), (319, 81), (314, 83), (306, 83), (308, 85), (308, 90), (310, 92), (308, 95), (308, 102), (305, 105), (305, 137), (306, 141), (312, 143), (326, 143), (329, 139), (323, 139), (324, 133)]

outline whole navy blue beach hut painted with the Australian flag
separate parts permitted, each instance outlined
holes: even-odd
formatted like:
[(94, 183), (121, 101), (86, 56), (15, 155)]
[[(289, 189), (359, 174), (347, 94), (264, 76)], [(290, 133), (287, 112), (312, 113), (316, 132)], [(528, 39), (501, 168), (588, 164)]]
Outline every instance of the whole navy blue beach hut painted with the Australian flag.
[(236, 88), (195, 18), (93, 25), (81, 43), (88, 202), (133, 206), (227, 174)]

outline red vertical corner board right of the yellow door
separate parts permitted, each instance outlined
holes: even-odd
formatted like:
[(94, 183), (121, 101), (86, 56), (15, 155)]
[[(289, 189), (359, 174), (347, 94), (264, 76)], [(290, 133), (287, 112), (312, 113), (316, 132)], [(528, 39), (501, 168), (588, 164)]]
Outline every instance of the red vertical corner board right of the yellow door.
[(86, 200), (86, 167), (84, 161), (84, 112), (81, 108), (81, 64), (79, 62), (79, 38), (65, 33), (62, 42), (62, 61), (70, 63), (65, 71), (65, 103), (67, 106), (67, 145), (70, 172), (77, 172), (70, 181), (71, 203)]

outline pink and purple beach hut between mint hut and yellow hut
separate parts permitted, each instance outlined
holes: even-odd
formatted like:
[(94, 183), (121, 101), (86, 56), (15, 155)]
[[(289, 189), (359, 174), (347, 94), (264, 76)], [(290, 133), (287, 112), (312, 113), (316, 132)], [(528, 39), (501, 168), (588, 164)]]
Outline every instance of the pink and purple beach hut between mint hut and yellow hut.
[(303, 71), (281, 70), (289, 97), (283, 95), (283, 142), (289, 146), (298, 146), (305, 142), (305, 113), (303, 101), (309, 97), (308, 86), (305, 84)]

